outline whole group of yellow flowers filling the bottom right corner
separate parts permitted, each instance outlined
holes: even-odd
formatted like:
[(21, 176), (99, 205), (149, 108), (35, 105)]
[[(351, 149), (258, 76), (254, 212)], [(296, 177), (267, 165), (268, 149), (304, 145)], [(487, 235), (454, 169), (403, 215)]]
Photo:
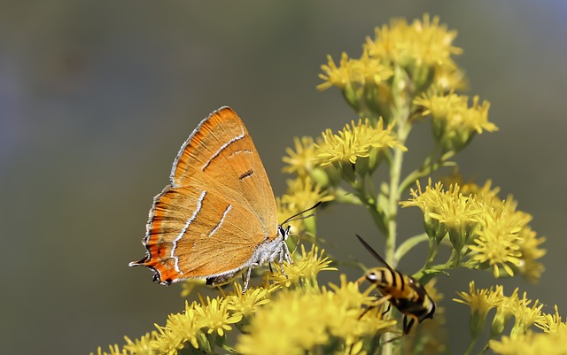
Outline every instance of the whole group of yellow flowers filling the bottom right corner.
[[(518, 297), (518, 289), (511, 296), (504, 296), (502, 286), (490, 289), (476, 289), (470, 282), (469, 293), (459, 292), (462, 299), (454, 299), (470, 306), (470, 331), (478, 337), (485, 325), (488, 311), (496, 308), (491, 338), (501, 336), (510, 318), (514, 317), (514, 325), (509, 336), (501, 336), (500, 340), (491, 340), (490, 348), (498, 354), (564, 354), (567, 351), (567, 323), (562, 321), (557, 306), (554, 314), (545, 314), (539, 300), (532, 301), (526, 297)], [(544, 330), (543, 334), (533, 332), (532, 326)]]

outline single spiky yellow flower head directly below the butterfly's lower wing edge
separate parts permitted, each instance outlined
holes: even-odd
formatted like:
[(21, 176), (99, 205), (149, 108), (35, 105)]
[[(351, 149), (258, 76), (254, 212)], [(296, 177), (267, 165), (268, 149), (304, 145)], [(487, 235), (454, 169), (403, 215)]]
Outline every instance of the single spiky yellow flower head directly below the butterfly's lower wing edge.
[(201, 319), (202, 327), (208, 328), (208, 334), (216, 332), (219, 336), (224, 336), (225, 331), (232, 330), (230, 324), (242, 320), (241, 313), (229, 314), (229, 302), (225, 298), (206, 297), (206, 303), (201, 299), (201, 305), (196, 312)]

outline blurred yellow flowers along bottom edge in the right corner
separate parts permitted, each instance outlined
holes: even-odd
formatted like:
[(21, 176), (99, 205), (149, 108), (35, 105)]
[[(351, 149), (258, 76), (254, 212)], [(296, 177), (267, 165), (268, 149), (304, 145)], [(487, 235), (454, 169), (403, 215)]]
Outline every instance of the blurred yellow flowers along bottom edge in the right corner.
[(534, 333), (528, 331), (518, 336), (502, 336), (491, 340), (490, 348), (501, 355), (564, 355), (567, 353), (567, 328), (556, 333)]

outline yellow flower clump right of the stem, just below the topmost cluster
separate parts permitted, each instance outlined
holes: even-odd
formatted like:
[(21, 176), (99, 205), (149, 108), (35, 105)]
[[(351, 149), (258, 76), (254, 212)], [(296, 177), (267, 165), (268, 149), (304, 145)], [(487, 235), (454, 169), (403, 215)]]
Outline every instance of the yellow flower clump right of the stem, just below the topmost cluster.
[(490, 104), (487, 101), (479, 104), (478, 96), (472, 101), (469, 107), (469, 96), (430, 92), (416, 98), (414, 104), (423, 107), (423, 116), (431, 115), (433, 135), (441, 148), (458, 151), (470, 143), (475, 134), (498, 130), (488, 121)]

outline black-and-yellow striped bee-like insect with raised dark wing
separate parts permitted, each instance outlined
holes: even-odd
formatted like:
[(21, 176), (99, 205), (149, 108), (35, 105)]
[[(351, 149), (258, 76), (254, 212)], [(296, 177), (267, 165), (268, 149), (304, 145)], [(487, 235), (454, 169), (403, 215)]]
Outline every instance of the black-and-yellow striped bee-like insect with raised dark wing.
[[(401, 274), (398, 270), (394, 270), (360, 235), (356, 235), (356, 237), (370, 254), (385, 266), (370, 269), (359, 279), (359, 283), (366, 279), (376, 285), (376, 288), (383, 296), (378, 300), (377, 305), (385, 301), (390, 301), (390, 305), (396, 307), (396, 309), (404, 315), (403, 335), (405, 336), (409, 333), (416, 321), (421, 323), (428, 318), (433, 319), (435, 303), (431, 297), (429, 297), (421, 283), (407, 274)], [(388, 310), (390, 309), (390, 305), (388, 305)], [(386, 312), (388, 312), (388, 310), (386, 310)]]

